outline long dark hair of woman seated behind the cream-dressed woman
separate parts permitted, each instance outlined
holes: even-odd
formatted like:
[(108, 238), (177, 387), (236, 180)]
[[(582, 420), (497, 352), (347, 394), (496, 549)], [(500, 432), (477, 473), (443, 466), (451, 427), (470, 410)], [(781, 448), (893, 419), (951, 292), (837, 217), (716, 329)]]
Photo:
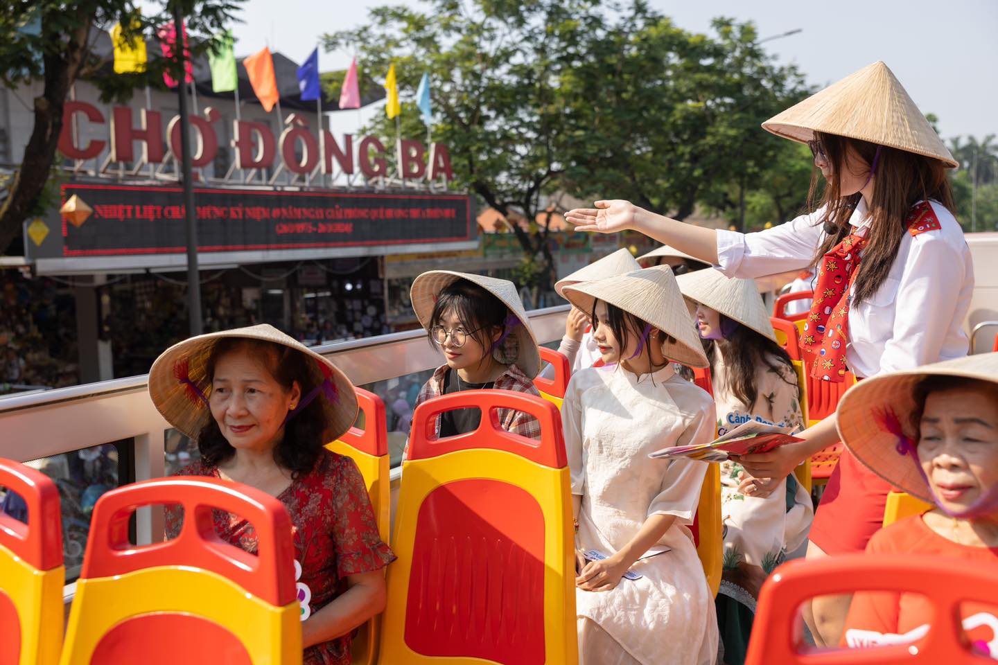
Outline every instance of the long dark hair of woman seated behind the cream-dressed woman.
[[(773, 372), (783, 383), (797, 389), (797, 399), (800, 399), (800, 386), (786, 380), (787, 376), (795, 377), (793, 361), (781, 346), (771, 339), (760, 335), (749, 326), (718, 312), (721, 333), (720, 340), (706, 340), (704, 347), (707, 359), (711, 361), (711, 373), (714, 374), (718, 354), (724, 360), (728, 376), (728, 388), (732, 395), (754, 410), (755, 401), (759, 398), (758, 386), (755, 385), (755, 372), (759, 366)], [(763, 395), (762, 397), (768, 398)], [(769, 405), (771, 408), (771, 404)], [(772, 415), (772, 414), (770, 414)]]

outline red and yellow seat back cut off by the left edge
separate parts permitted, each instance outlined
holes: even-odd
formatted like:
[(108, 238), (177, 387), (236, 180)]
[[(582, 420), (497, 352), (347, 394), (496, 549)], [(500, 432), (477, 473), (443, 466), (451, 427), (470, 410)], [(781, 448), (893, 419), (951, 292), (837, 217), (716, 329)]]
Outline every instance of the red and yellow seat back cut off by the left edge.
[(0, 488), (7, 491), (0, 510), (0, 665), (55, 665), (66, 578), (59, 489), (44, 474), (3, 458)]

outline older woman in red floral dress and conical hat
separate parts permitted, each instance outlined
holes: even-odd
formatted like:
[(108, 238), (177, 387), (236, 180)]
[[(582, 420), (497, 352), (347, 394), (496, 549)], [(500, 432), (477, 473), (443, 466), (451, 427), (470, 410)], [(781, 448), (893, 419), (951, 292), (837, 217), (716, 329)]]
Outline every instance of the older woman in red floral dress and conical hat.
[[(384, 609), (378, 535), (356, 465), (324, 444), (356, 418), (353, 386), (329, 360), (267, 325), (194, 337), (160, 356), (150, 394), (201, 460), (180, 475), (243, 483), (279, 499), (293, 524), (304, 665), (348, 665), (354, 629)], [(167, 510), (167, 534), (182, 525)], [(254, 552), (239, 515), (215, 511), (220, 537)]]

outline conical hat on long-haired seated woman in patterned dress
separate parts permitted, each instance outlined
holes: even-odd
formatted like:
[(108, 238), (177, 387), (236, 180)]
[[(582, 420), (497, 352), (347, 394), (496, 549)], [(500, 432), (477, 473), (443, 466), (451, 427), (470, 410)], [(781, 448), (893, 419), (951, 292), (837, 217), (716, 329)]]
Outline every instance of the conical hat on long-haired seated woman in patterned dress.
[(680, 290), (695, 303), (717, 310), (748, 326), (759, 335), (776, 341), (769, 313), (754, 279), (729, 279), (720, 270), (698, 270), (676, 278)]

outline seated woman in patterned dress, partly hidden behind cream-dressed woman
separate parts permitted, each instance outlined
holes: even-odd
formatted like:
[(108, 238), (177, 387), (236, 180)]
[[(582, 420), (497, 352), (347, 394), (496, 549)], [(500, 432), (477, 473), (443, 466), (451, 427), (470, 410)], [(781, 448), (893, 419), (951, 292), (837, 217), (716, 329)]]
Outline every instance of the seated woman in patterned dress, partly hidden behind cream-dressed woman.
[[(718, 435), (749, 421), (802, 430), (796, 370), (776, 343), (755, 280), (708, 269), (676, 281), (707, 345)], [(814, 517), (810, 495), (792, 474), (767, 497), (746, 495), (744, 477), (739, 462), (721, 463), (725, 558), (717, 605), (730, 665), (745, 662), (759, 587), (787, 552), (803, 544)]]

